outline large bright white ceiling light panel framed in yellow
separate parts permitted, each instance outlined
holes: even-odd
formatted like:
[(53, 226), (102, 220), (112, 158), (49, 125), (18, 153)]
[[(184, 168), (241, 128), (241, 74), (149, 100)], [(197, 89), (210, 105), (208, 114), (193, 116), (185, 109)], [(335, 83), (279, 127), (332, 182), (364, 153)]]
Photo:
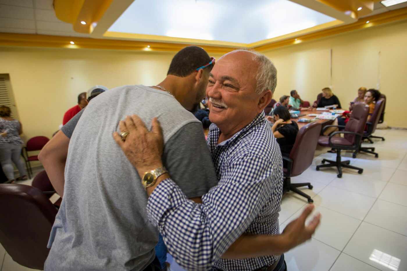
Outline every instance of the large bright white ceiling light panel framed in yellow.
[(137, 0), (108, 31), (253, 43), (334, 20), (289, 0)]

